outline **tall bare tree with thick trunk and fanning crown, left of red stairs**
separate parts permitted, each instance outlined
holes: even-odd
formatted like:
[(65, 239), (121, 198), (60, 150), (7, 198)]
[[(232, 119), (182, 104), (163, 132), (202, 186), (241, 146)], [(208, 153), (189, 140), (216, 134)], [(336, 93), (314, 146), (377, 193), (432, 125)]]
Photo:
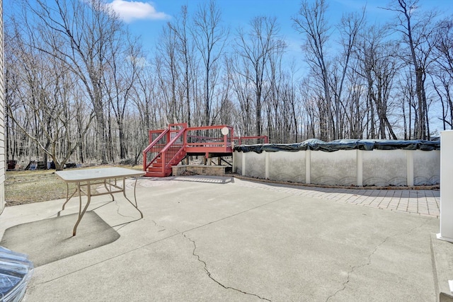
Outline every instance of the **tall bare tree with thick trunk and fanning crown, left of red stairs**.
[[(109, 42), (122, 34), (122, 24), (101, 0), (37, 0), (28, 1), (28, 8), (35, 17), (35, 26), (47, 30), (42, 35), (46, 47), (42, 51), (52, 53), (84, 84), (96, 115), (98, 156), (107, 163), (102, 79), (112, 59)], [(56, 35), (62, 45), (53, 44)]]

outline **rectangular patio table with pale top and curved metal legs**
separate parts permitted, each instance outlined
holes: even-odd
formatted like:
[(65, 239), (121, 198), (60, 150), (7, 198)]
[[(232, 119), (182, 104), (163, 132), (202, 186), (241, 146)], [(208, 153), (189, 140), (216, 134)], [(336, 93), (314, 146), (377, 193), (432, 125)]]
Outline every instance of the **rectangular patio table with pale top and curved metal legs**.
[[(66, 206), (67, 202), (69, 202), (69, 199), (74, 197), (75, 194), (79, 193), (79, 218), (77, 219), (76, 225), (74, 226), (74, 229), (72, 231), (72, 236), (76, 236), (76, 231), (77, 231), (77, 226), (79, 226), (79, 223), (84, 216), (86, 209), (88, 209), (88, 206), (90, 205), (91, 202), (91, 197), (92, 196), (99, 196), (99, 195), (105, 195), (105, 194), (110, 194), (113, 200), (115, 200), (115, 197), (113, 197), (113, 193), (118, 193), (122, 192), (124, 195), (125, 199), (127, 199), (132, 206), (134, 206), (137, 211), (140, 213), (140, 218), (143, 218), (142, 211), (139, 210), (138, 205), (137, 205), (137, 197), (135, 196), (135, 187), (137, 186), (137, 178), (139, 176), (144, 175), (143, 171), (137, 171), (137, 170), (132, 170), (132, 169), (125, 169), (125, 168), (97, 168), (97, 169), (76, 169), (76, 170), (64, 170), (64, 171), (57, 171), (55, 172), (59, 178), (64, 180), (67, 185), (67, 198), (66, 202), (64, 202), (62, 211), (64, 210), (64, 207)], [(126, 196), (126, 185), (125, 185), (125, 180), (126, 178), (132, 178), (135, 177), (135, 183), (134, 183), (134, 202), (131, 202), (129, 198)], [(117, 182), (121, 182), (122, 180), (122, 187), (118, 185)], [(69, 183), (74, 182), (76, 184), (76, 190), (69, 196)], [(91, 186), (92, 185), (104, 185), (105, 190), (107, 192), (101, 192), (101, 193), (91, 193)], [(86, 190), (84, 188), (86, 187)], [(82, 209), (82, 198), (81, 195), (84, 194), (86, 197), (88, 197), (88, 200), (86, 202), (86, 205), (84, 209)], [(61, 211), (60, 211), (61, 212)], [(58, 216), (59, 213), (58, 212)]]

